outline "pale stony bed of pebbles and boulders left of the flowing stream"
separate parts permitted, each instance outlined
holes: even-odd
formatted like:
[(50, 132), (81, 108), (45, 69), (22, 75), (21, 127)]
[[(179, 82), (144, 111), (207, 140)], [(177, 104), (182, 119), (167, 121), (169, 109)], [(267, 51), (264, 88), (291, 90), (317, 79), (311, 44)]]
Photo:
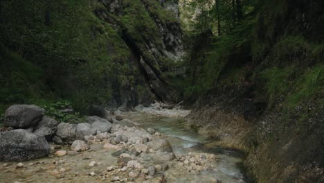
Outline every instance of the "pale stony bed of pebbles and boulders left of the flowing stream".
[[(149, 110), (145, 108), (138, 112), (116, 111), (114, 114), (118, 116), (109, 116), (111, 123), (89, 116), (88, 123), (72, 125), (58, 124), (35, 105), (11, 106), (6, 113), (6, 124), (13, 124), (15, 119), (19, 123), (16, 127), (24, 123), (27, 130), (1, 133), (1, 161), (4, 161), (0, 166), (1, 181), (222, 182), (219, 179), (224, 179), (227, 182), (233, 179), (244, 182), (240, 173), (239, 177), (231, 174), (217, 177), (221, 156), (195, 150), (194, 145), (181, 147), (186, 143), (178, 137), (168, 137), (154, 128), (141, 128), (143, 120), (157, 118), (145, 112)], [(150, 107), (151, 112), (154, 110), (155, 107)], [(173, 110), (170, 114), (175, 113), (183, 111)], [(27, 114), (34, 116), (27, 117)], [(145, 114), (152, 117), (147, 118)], [(139, 116), (144, 118), (138, 119)]]

